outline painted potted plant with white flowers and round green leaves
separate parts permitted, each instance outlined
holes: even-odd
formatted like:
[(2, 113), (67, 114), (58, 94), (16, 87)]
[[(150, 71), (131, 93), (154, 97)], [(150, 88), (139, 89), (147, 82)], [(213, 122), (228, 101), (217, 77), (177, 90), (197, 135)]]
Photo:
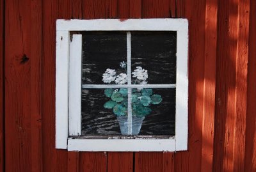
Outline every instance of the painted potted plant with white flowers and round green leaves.
[[(108, 84), (126, 84), (127, 70), (126, 63), (120, 63), (120, 67), (124, 73), (116, 74), (116, 70), (107, 69), (102, 75), (102, 81)], [(147, 70), (137, 66), (132, 77), (135, 78), (133, 84), (147, 84), (148, 73)], [(128, 90), (127, 88), (104, 90), (104, 95), (109, 98), (108, 102), (104, 104), (104, 108), (112, 109), (118, 120), (122, 135), (128, 134), (127, 124), (127, 107), (128, 107)], [(151, 88), (133, 88), (131, 91), (131, 111), (132, 111), (132, 135), (138, 135), (145, 116), (152, 113), (150, 107), (160, 104), (162, 101), (161, 95), (153, 93)]]

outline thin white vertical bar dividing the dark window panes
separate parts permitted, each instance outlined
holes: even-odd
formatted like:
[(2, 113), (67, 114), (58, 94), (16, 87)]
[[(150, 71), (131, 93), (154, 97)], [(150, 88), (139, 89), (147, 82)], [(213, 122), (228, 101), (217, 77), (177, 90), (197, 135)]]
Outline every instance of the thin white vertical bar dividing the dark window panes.
[[(131, 84), (131, 32), (127, 32), (127, 82)], [(132, 88), (128, 88), (127, 127), (132, 134)]]

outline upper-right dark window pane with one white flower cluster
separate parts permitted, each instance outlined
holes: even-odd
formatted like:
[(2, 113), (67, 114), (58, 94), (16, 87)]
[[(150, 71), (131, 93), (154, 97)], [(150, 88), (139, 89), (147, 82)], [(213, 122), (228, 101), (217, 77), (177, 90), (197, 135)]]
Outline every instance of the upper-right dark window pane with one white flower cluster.
[(176, 31), (132, 31), (132, 84), (176, 83)]

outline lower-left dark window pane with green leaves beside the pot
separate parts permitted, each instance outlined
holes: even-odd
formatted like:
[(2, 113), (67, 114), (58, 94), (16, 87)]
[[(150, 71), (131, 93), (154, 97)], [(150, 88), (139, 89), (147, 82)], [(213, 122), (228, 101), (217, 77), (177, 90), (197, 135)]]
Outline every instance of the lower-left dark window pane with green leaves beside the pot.
[[(120, 90), (120, 89), (119, 89)], [(120, 135), (116, 114), (126, 114), (123, 95), (112, 89), (83, 89), (81, 102), (82, 135)], [(122, 101), (122, 102), (121, 102)], [(113, 112), (113, 107), (118, 106)]]

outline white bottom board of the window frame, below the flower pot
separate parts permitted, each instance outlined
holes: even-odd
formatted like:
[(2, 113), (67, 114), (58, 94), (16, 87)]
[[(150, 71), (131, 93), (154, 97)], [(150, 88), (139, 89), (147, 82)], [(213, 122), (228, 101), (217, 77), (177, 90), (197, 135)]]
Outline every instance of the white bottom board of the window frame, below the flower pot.
[(175, 151), (175, 139), (68, 139), (68, 151)]

